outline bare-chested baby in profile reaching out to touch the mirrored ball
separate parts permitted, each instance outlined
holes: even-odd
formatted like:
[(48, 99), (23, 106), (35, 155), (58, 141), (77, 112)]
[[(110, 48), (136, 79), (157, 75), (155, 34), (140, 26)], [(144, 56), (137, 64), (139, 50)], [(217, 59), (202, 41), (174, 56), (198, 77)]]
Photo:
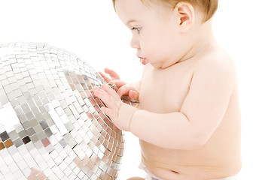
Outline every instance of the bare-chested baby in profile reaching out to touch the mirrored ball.
[[(145, 179), (236, 179), (241, 169), (235, 66), (212, 34), (218, 0), (116, 0), (144, 65), (139, 83), (94, 88), (121, 130), (139, 137)], [(137, 98), (139, 106), (120, 97)], [(130, 178), (142, 179), (142, 178)]]

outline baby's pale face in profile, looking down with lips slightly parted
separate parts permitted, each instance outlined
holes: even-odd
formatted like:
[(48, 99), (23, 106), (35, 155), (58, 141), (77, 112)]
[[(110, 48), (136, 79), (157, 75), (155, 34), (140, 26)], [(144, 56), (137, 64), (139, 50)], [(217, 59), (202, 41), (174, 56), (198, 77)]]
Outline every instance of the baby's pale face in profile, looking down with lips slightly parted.
[(143, 65), (167, 68), (178, 62), (180, 33), (172, 10), (157, 5), (144, 5), (140, 0), (117, 0), (115, 8), (120, 20), (133, 33), (131, 46)]

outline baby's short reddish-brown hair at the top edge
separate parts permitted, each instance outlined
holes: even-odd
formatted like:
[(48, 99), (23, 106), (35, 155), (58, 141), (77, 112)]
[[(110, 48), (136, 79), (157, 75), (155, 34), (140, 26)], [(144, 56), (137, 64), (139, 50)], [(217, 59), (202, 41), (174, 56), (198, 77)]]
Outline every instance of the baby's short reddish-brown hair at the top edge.
[[(113, 4), (116, 0), (112, 0)], [(145, 0), (140, 0), (145, 1)], [(206, 22), (207, 20), (211, 19), (211, 17), (214, 15), (215, 11), (218, 8), (218, 0), (147, 0), (154, 2), (155, 4), (159, 5), (165, 5), (165, 6), (171, 6), (175, 7), (178, 2), (188, 2), (194, 7), (199, 7), (199, 9), (205, 14), (205, 17), (203, 19), (203, 22)]]

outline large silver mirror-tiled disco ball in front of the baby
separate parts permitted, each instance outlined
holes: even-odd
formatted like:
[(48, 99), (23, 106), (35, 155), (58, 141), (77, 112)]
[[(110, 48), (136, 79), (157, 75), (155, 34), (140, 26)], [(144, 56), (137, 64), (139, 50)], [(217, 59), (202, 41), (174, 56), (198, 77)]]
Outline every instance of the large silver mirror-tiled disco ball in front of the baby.
[(0, 179), (116, 179), (123, 134), (91, 92), (103, 83), (63, 49), (0, 45)]

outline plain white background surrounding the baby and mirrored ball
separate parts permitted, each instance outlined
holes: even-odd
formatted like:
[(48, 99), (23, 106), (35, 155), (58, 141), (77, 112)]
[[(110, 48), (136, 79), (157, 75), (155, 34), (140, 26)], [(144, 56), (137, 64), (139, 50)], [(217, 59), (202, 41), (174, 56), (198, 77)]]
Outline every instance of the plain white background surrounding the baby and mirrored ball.
[[(130, 48), (130, 31), (114, 13), (111, 0), (0, 0), (0, 43), (47, 43), (75, 53), (97, 71), (113, 68), (127, 83), (139, 80), (142, 65)], [(232, 56), (242, 110), (240, 180), (256, 179), (256, 2), (219, 0), (214, 33)], [(142, 175), (138, 139), (125, 134), (120, 180)]]

